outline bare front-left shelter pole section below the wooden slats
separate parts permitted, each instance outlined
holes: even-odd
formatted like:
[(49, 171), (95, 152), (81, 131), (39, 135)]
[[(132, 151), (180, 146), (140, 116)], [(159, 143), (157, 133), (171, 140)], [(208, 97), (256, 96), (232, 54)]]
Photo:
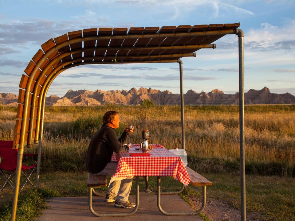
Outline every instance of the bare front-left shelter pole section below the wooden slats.
[(24, 148), (23, 148), (23, 146), (19, 146), (18, 163), (17, 163), (17, 168), (15, 171), (15, 180), (14, 180), (14, 194), (13, 194), (13, 200), (12, 200), (12, 211), (11, 211), (11, 217), (10, 217), (11, 221), (14, 221), (16, 219), (19, 186), (20, 186), (20, 180), (21, 180), (21, 174), (22, 174), (22, 157), (23, 157), (23, 155), (24, 155)]

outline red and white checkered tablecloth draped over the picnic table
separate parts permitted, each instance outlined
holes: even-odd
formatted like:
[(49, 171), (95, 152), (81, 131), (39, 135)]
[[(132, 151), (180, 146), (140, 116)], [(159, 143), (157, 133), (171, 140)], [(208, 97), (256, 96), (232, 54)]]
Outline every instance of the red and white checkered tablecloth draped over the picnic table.
[[(171, 153), (163, 145), (152, 145), (156, 147), (148, 151), (151, 154), (149, 157), (130, 156), (129, 153), (142, 153), (141, 150), (136, 150), (139, 145), (131, 145), (128, 152), (119, 153), (120, 160), (116, 173), (112, 177), (173, 176), (176, 180), (188, 185), (191, 179), (181, 157)], [(115, 154), (113, 154), (112, 160), (116, 161)]]

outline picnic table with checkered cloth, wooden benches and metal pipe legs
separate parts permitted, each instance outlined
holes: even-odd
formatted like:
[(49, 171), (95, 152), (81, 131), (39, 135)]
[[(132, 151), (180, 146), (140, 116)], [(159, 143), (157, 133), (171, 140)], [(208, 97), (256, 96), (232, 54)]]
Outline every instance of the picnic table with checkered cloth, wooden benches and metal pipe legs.
[[(108, 217), (108, 216), (127, 216), (134, 214), (139, 206), (139, 176), (157, 176), (157, 205), (159, 211), (161, 211), (165, 215), (196, 215), (199, 211), (203, 210), (206, 204), (206, 185), (211, 185), (209, 180), (206, 180), (203, 176), (200, 176), (195, 171), (186, 167), (183, 164), (181, 157), (175, 155), (169, 150), (165, 149), (163, 145), (151, 144), (152, 149), (148, 151), (149, 156), (131, 156), (133, 153), (142, 154), (139, 149), (139, 145), (131, 145), (128, 152), (118, 153), (120, 157), (118, 161), (118, 166), (116, 169), (116, 173), (111, 177), (110, 183), (114, 180), (120, 180), (121, 177), (126, 176), (135, 176), (136, 177), (136, 206), (131, 212), (128, 213), (113, 213), (113, 214), (98, 214), (92, 208), (92, 192), (93, 187), (89, 186), (89, 209), (92, 214), (100, 217)], [(116, 161), (116, 154), (114, 153), (111, 161)], [(187, 172), (187, 169), (190, 171), (190, 174)], [(196, 181), (196, 176), (198, 180)], [(161, 192), (161, 176), (172, 176), (176, 180), (179, 180), (183, 184), (183, 188), (179, 191), (172, 192)], [(100, 176), (102, 177), (102, 176)], [(191, 182), (191, 177), (193, 178), (193, 182)], [(104, 183), (105, 176), (102, 177), (101, 186), (106, 186), (106, 181)], [(101, 181), (101, 180), (100, 180)], [(201, 182), (201, 184), (200, 184)], [(195, 185), (196, 183), (203, 186), (203, 205), (202, 208), (197, 212), (166, 212), (161, 208), (160, 205), (160, 195), (161, 194), (177, 194), (180, 193), (185, 185), (192, 183)], [(206, 183), (206, 184), (205, 184)], [(92, 184), (93, 186), (93, 184)], [(96, 185), (97, 187), (97, 185)], [(99, 195), (96, 193), (96, 195)]]

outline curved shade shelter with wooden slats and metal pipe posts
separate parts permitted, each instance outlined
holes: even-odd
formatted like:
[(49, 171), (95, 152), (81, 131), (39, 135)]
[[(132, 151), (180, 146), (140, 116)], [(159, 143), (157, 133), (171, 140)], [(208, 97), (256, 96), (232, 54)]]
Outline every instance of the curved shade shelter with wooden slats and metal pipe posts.
[(184, 140), (183, 62), (201, 48), (215, 48), (214, 41), (227, 34), (239, 38), (241, 220), (246, 220), (244, 158), (243, 37), (240, 23), (179, 25), (145, 28), (93, 28), (69, 32), (41, 45), (29, 61), (20, 81), (13, 148), (18, 149), (11, 220), (16, 218), (24, 146), (38, 144), (36, 187), (39, 186), (45, 98), (53, 80), (66, 69), (84, 64), (175, 63), (179, 64), (182, 148)]

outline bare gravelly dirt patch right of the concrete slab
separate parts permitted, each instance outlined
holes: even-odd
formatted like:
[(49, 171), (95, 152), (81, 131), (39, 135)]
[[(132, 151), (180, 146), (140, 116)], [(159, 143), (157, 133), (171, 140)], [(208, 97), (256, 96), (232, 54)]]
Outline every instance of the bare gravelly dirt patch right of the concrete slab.
[[(194, 209), (199, 209), (202, 206), (202, 201), (194, 197), (187, 197)], [(212, 221), (237, 221), (241, 220), (241, 211), (232, 207), (224, 200), (214, 200), (212, 197), (207, 197), (206, 207), (203, 214), (207, 215)], [(263, 221), (260, 215), (254, 213), (246, 214), (249, 221)]]

